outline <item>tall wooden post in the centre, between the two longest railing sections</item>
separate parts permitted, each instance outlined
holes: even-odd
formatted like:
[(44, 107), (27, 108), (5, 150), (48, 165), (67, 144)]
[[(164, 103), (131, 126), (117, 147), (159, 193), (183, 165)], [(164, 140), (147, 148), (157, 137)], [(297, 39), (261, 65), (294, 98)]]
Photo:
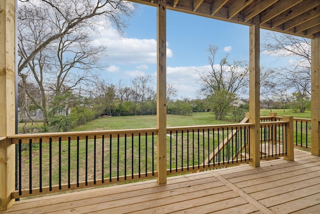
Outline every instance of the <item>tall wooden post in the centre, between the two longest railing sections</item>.
[(157, 7), (157, 181), (166, 183), (166, 8), (159, 0)]

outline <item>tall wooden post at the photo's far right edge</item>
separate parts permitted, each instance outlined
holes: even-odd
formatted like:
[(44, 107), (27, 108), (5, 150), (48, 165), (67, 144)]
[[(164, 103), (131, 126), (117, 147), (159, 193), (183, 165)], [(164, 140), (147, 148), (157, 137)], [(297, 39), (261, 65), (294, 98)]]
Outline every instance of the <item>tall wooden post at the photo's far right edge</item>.
[(320, 156), (320, 33), (311, 39), (311, 154)]

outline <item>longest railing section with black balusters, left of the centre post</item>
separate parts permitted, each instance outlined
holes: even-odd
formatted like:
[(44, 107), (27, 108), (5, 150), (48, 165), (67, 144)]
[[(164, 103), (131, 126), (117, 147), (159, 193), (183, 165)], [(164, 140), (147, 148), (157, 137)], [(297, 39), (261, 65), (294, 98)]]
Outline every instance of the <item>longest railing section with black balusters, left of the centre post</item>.
[(13, 198), (156, 177), (156, 129), (15, 135)]

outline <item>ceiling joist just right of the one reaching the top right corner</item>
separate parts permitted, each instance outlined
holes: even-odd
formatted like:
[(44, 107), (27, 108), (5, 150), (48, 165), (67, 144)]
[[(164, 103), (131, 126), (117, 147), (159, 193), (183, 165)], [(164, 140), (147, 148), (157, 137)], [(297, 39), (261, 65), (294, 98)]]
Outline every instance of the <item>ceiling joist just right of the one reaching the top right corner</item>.
[(294, 17), (293, 19), (283, 23), (283, 31), (286, 31), (288, 29), (291, 29), (297, 25), (300, 25), (306, 21), (311, 20), (313, 17), (318, 20), (319, 22), (319, 17), (320, 16), (320, 6), (313, 8), (309, 10), (307, 13), (301, 14), (297, 17)]

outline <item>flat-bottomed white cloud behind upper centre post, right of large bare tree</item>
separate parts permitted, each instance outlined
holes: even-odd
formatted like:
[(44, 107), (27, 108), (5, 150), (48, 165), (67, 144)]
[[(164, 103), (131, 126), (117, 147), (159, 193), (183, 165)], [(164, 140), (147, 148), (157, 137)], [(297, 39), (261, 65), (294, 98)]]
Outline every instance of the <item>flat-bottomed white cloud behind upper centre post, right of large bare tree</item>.
[[(112, 64), (155, 64), (156, 40), (125, 38), (112, 27), (100, 27), (100, 35), (93, 36), (94, 45), (107, 47), (106, 63)], [(168, 43), (166, 44), (168, 47)], [(172, 51), (166, 48), (166, 57), (172, 57)]]

